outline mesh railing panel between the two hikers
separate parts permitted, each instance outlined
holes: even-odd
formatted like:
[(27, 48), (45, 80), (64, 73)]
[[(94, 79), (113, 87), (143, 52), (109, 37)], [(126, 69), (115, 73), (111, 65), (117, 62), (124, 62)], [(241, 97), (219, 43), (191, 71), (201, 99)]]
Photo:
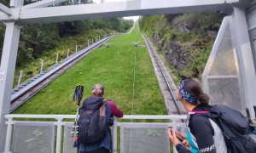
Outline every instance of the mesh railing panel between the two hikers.
[(170, 153), (168, 124), (121, 125), (121, 153)]

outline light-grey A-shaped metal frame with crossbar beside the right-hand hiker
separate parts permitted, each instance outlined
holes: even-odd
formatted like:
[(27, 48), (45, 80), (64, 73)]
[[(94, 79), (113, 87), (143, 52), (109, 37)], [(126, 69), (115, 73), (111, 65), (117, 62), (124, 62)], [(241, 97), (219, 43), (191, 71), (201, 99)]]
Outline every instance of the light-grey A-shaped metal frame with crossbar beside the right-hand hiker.
[[(234, 12), (230, 16), (224, 18), (222, 27), (218, 32), (218, 37), (212, 48), (212, 53), (208, 59), (206, 69), (203, 73), (203, 88), (204, 91), (209, 94), (208, 79), (211, 78), (237, 78), (240, 98), (241, 98), (241, 111), (246, 116), (246, 108), (249, 109), (253, 116), (255, 115), (253, 105), (256, 105), (256, 94), (253, 94), (255, 88), (255, 69), (253, 64), (253, 53), (250, 44), (247, 20), (245, 11), (241, 8), (234, 7)], [(234, 52), (236, 65), (233, 65), (237, 69), (237, 75), (221, 75), (221, 76), (208, 76), (210, 69), (212, 68), (213, 59), (216, 58), (219, 45), (224, 36), (226, 26), (230, 26), (231, 41), (234, 45)]]

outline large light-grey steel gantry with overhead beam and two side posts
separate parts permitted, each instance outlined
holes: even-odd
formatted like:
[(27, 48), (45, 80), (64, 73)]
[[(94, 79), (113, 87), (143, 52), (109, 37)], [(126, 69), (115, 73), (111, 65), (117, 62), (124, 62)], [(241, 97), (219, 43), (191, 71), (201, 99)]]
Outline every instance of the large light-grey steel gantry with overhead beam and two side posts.
[[(245, 7), (250, 0), (132, 0), (116, 3), (92, 3), (70, 6), (52, 6), (65, 0), (44, 0), (23, 6), (23, 0), (11, 0), (10, 8), (0, 3), (1, 26), (6, 26), (0, 67), (0, 152), (3, 151), (7, 126), (4, 116), (9, 114), (11, 92), (15, 76), (15, 62), (20, 28), (26, 24), (85, 20), (148, 14), (178, 14), (198, 11), (232, 13), (236, 24), (238, 64), (242, 76), (244, 100), (253, 105), (255, 99), (255, 71), (247, 31)], [(254, 67), (253, 67), (254, 68)], [(251, 81), (254, 81), (253, 83)]]

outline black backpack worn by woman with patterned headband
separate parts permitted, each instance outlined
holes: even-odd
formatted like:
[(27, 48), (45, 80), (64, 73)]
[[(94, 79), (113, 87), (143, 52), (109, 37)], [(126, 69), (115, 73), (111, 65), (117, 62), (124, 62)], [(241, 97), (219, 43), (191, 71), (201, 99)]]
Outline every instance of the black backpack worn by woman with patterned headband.
[(246, 116), (225, 105), (204, 107), (210, 113), (198, 114), (207, 116), (218, 124), (224, 133), (224, 140), (230, 153), (255, 153), (256, 134)]

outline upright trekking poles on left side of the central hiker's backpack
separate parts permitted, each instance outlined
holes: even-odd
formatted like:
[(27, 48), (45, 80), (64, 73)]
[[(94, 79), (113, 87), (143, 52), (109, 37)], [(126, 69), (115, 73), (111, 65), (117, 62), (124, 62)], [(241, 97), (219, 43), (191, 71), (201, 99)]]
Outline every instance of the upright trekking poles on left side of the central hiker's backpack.
[(78, 85), (75, 88), (75, 91), (73, 93), (73, 101), (77, 101), (77, 111), (76, 111), (76, 117), (75, 121), (73, 122), (73, 131), (71, 132), (72, 137), (71, 137), (71, 142), (73, 140), (77, 140), (77, 145), (78, 145), (78, 152), (79, 152), (79, 105), (80, 101), (83, 98), (83, 93), (84, 93), (84, 86)]

